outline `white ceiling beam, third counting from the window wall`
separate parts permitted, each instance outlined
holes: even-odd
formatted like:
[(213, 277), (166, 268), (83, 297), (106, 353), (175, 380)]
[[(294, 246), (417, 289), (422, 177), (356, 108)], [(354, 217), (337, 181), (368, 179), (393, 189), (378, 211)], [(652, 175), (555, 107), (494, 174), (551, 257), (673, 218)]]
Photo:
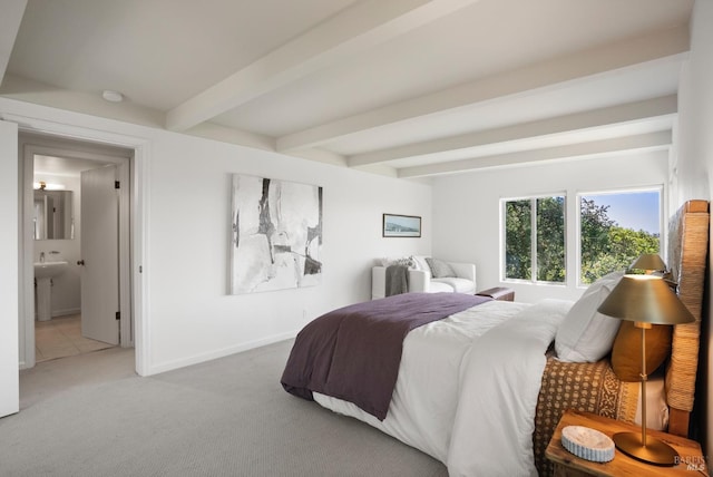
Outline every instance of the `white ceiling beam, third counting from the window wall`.
[(289, 134), (277, 138), (277, 150), (290, 153), (318, 147), (351, 134), (472, 107), (496, 98), (556, 90), (570, 81), (587, 80), (599, 74), (648, 61), (680, 60), (677, 56), (688, 51), (688, 28), (684, 26), (577, 51)]

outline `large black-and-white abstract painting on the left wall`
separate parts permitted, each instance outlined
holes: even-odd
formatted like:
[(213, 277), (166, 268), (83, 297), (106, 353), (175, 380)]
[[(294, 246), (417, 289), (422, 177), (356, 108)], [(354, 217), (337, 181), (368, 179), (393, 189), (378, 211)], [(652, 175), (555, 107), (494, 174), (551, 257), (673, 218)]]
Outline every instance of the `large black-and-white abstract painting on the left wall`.
[(322, 280), (322, 187), (233, 175), (231, 293)]

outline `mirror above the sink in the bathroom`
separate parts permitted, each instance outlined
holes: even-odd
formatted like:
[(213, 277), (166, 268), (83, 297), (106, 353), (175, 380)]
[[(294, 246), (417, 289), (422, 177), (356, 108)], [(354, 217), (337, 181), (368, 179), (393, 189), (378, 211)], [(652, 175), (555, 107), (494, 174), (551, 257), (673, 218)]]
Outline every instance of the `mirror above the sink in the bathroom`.
[(35, 240), (75, 237), (71, 191), (35, 191)]

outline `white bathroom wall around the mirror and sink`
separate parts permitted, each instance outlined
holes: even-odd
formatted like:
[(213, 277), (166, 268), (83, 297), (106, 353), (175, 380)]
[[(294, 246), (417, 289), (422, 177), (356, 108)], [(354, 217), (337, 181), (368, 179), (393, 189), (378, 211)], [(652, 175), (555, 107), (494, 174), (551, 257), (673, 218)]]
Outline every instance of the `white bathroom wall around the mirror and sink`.
[[(79, 281), (80, 259), (80, 211), (81, 186), (79, 177), (68, 177), (64, 175), (42, 174), (35, 176), (37, 181), (45, 181), (52, 184), (64, 184), (67, 191), (72, 192), (72, 215), (75, 216), (75, 238), (72, 240), (38, 240), (35, 241), (33, 260), (39, 262), (40, 253), (45, 252), (47, 261), (65, 260), (69, 266), (65, 273), (52, 279), (52, 317), (79, 313), (81, 309), (81, 286)], [(59, 254), (50, 254), (59, 252)], [(37, 313), (37, 309), (36, 309)]]

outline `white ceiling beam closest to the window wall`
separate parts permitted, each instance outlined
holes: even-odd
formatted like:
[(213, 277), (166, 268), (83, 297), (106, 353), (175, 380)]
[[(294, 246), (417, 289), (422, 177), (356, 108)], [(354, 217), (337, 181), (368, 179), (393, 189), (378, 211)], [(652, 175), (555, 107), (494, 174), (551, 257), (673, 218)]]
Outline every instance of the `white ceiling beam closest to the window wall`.
[(424, 177), (480, 169), (524, 166), (527, 164), (545, 164), (556, 160), (593, 158), (604, 154), (628, 154), (644, 150), (662, 150), (671, 147), (671, 130), (641, 134), (636, 136), (616, 137), (589, 143), (569, 144), (566, 146), (522, 150), (497, 156), (478, 157), (448, 163), (412, 166), (398, 169), (399, 178)]

